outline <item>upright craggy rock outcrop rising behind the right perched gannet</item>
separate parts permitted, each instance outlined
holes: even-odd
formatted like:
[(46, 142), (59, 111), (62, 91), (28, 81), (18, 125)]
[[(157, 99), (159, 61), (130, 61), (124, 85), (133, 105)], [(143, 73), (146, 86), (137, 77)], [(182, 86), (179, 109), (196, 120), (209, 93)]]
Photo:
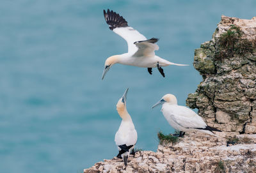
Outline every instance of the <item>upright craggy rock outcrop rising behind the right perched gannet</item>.
[(256, 133), (256, 17), (221, 17), (211, 41), (195, 50), (203, 77), (186, 103), (209, 126), (225, 132)]

